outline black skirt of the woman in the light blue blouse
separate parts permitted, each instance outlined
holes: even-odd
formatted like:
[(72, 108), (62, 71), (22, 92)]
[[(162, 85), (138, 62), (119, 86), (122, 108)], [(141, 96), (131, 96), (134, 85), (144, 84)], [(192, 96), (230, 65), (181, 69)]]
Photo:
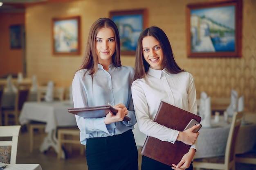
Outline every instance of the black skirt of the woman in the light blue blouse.
[(138, 150), (132, 130), (87, 139), (86, 159), (88, 170), (138, 170)]

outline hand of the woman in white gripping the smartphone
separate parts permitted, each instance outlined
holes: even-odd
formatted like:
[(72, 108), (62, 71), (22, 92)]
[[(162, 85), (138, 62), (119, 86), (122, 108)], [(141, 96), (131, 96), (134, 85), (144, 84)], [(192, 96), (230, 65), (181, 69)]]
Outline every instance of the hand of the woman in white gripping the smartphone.
[(193, 130), (198, 128), (199, 124), (192, 126), (184, 132), (179, 132), (179, 135), (176, 140), (183, 142), (187, 145), (193, 145), (195, 140), (198, 138), (199, 132), (194, 133)]

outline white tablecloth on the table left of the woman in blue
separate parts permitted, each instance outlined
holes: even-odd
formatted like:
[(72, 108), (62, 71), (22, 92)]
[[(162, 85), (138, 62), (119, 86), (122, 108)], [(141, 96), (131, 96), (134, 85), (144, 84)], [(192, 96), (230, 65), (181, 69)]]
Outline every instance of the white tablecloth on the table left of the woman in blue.
[(69, 101), (25, 102), (20, 112), (20, 124), (31, 120), (46, 122), (45, 132), (61, 126), (76, 126), (74, 114), (67, 112), (72, 108)]

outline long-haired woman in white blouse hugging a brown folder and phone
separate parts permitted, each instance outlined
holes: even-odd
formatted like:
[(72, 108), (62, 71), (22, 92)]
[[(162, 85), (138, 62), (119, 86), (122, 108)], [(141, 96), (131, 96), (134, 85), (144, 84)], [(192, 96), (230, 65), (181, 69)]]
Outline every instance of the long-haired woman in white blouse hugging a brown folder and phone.
[(173, 167), (142, 156), (141, 170), (193, 170), (191, 161), (199, 133), (192, 131), (198, 126), (180, 132), (153, 122), (161, 101), (197, 114), (193, 76), (177, 65), (168, 37), (156, 26), (146, 28), (139, 36), (133, 80), (132, 99), (139, 130), (162, 141), (181, 141), (192, 145)]

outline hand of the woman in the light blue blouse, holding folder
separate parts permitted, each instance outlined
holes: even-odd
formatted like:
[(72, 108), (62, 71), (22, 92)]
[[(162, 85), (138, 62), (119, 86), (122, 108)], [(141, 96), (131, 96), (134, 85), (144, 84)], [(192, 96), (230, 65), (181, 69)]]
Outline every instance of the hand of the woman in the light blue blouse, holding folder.
[(118, 110), (117, 114), (114, 115), (111, 111), (106, 115), (104, 119), (105, 124), (110, 124), (113, 122), (119, 122), (124, 120), (124, 116), (128, 114), (128, 110), (125, 105), (119, 103), (114, 106)]

